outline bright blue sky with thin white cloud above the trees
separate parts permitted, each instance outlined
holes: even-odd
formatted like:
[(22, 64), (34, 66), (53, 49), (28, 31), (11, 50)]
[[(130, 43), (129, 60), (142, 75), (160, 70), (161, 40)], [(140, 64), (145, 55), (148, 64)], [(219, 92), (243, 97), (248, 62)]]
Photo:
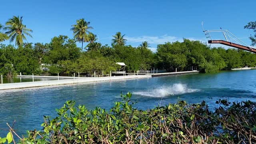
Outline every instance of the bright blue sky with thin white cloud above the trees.
[(60, 34), (73, 37), (71, 25), (85, 18), (102, 44), (110, 44), (112, 35), (120, 31), (127, 44), (138, 46), (147, 40), (155, 51), (157, 44), (183, 38), (205, 42), (202, 21), (205, 29), (222, 27), (250, 44), (253, 33), (244, 26), (256, 20), (255, 6), (256, 0), (5, 0), (0, 23), (23, 16), (33, 30), (27, 42), (46, 43)]

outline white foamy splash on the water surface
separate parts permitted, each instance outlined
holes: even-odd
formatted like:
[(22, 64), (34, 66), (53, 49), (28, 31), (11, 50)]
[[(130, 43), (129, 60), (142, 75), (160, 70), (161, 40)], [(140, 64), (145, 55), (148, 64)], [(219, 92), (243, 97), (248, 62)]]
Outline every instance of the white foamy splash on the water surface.
[(185, 94), (185, 93), (196, 92), (196, 91), (199, 91), (199, 90), (190, 89), (186, 86), (186, 84), (173, 84), (172, 86), (162, 86), (161, 88), (149, 90), (148, 92), (146, 91), (132, 92), (132, 94), (162, 98), (165, 96)]

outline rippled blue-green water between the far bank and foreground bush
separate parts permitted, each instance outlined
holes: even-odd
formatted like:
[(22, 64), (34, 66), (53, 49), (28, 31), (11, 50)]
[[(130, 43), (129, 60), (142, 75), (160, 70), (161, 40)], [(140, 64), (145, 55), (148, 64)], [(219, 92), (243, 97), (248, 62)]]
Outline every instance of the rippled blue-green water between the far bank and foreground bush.
[[(155, 78), (95, 82), (54, 87), (0, 91), (0, 128), (12, 124), (19, 134), (26, 130), (41, 129), (43, 115), (56, 116), (55, 108), (66, 100), (76, 100), (92, 109), (109, 109), (120, 100), (120, 92), (132, 92), (138, 108), (154, 108), (176, 102), (188, 103), (205, 100), (214, 106), (218, 99), (256, 101), (256, 70), (224, 71), (217, 74), (189, 74)], [(0, 136), (7, 131), (0, 130)]]

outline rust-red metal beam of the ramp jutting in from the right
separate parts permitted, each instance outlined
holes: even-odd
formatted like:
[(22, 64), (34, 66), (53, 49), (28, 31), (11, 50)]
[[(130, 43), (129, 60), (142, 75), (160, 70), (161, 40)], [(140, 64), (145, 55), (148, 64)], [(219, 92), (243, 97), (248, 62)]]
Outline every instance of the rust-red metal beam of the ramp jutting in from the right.
[(241, 50), (246, 50), (246, 51), (249, 51), (249, 52), (256, 53), (256, 49), (254, 49), (254, 48), (249, 48), (248, 46), (242, 46), (240, 44), (234, 44), (234, 43), (227, 42), (227, 41), (224, 41), (224, 40), (208, 40), (208, 43), (209, 44), (224, 44), (226, 46), (232, 46), (234, 48), (239, 48)]

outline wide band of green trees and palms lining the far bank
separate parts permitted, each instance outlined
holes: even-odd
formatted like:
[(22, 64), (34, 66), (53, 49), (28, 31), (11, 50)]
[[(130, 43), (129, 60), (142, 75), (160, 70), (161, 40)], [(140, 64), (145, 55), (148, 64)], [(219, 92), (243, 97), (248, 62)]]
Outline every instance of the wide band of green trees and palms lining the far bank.
[[(152, 52), (150, 44), (144, 41), (138, 47), (126, 45), (125, 35), (116, 32), (111, 46), (96, 42), (97, 36), (92, 34), (90, 22), (84, 19), (76, 21), (71, 26), (74, 38), (55, 36), (49, 43), (24, 43), (25, 35), (30, 36), (32, 30), (22, 24), (22, 17), (14, 16), (0, 25), (5, 33), (0, 32), (0, 42), (15, 40), (15, 45), (0, 44), (0, 73), (4, 76), (22, 74), (68, 74), (80, 72), (91, 76), (109, 74), (120, 68), (116, 62), (124, 62), (126, 71), (167, 70), (168, 72), (195, 70), (201, 72), (217, 72), (244, 66), (255, 67), (256, 55), (238, 49), (210, 48), (199, 41), (184, 39), (184, 42), (166, 42), (157, 46), (157, 52)], [(255, 22), (248, 23), (245, 28), (254, 29)], [(255, 36), (250, 37), (252, 45)], [(82, 42), (78, 48), (76, 42)], [(87, 43), (83, 47), (84, 42)], [(86, 49), (86, 50), (84, 50)]]

